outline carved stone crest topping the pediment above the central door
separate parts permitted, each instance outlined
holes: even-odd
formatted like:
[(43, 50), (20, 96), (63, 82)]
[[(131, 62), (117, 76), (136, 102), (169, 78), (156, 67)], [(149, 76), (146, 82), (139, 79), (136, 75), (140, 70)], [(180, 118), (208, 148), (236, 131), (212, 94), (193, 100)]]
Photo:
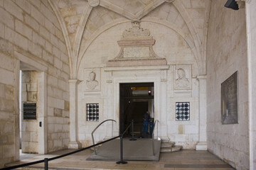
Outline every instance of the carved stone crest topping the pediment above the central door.
[(150, 32), (148, 29), (140, 28), (140, 22), (139, 20), (133, 20), (132, 21), (132, 28), (129, 28), (129, 30), (124, 30), (123, 38), (127, 37), (141, 37), (141, 36), (149, 36)]

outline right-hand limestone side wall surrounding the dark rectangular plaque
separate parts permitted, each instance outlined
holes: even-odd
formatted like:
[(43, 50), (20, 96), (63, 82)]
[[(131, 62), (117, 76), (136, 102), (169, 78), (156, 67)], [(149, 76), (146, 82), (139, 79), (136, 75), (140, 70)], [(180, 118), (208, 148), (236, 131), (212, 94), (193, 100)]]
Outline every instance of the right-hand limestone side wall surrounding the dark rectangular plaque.
[[(249, 169), (248, 78), (245, 8), (212, 1), (207, 45), (208, 150), (236, 169)], [(221, 86), (238, 71), (238, 124), (221, 122)]]

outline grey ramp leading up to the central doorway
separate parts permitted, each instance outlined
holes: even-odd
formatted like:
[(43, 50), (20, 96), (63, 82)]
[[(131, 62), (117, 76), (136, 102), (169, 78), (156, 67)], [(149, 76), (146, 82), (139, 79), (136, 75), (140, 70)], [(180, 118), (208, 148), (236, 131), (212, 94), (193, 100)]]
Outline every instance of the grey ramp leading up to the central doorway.
[[(123, 140), (123, 158), (127, 161), (159, 161), (161, 140), (154, 140), (154, 155), (152, 140), (138, 139), (130, 141)], [(87, 160), (119, 161), (120, 140), (112, 140), (100, 146), (97, 154), (93, 152)]]

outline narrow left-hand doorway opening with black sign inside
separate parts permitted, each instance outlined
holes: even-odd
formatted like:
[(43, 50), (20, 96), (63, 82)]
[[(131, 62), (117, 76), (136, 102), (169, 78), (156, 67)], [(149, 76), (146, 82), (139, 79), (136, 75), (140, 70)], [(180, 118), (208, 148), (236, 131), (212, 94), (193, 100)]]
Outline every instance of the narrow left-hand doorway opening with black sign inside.
[(38, 154), (38, 72), (20, 71), (20, 149), (21, 154)]

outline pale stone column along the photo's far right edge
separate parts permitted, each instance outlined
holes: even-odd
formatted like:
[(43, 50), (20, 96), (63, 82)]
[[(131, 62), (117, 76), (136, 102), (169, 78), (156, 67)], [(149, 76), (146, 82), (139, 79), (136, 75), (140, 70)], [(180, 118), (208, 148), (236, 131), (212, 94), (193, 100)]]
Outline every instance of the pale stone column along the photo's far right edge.
[[(245, 1), (245, 0), (243, 0)], [(250, 169), (256, 169), (256, 1), (245, 1), (247, 28), (247, 67), (249, 96), (249, 154)]]

